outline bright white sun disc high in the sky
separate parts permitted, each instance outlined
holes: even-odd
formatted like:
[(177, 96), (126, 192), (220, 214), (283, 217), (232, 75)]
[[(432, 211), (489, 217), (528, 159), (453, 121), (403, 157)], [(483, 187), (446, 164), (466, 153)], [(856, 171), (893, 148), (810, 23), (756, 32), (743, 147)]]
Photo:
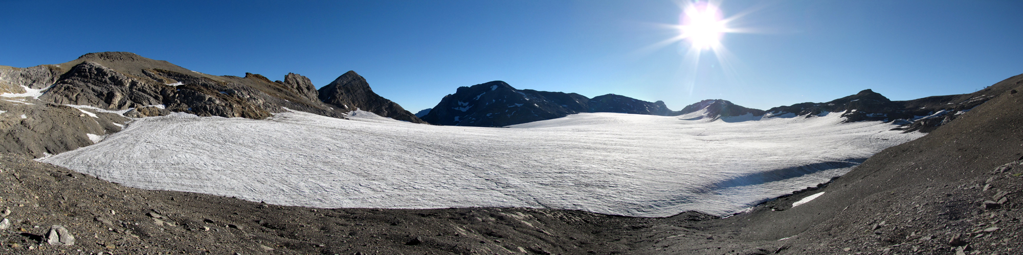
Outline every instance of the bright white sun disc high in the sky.
[(706, 2), (686, 6), (680, 19), (680, 37), (700, 50), (716, 48), (720, 45), (721, 36), (728, 32), (721, 10)]

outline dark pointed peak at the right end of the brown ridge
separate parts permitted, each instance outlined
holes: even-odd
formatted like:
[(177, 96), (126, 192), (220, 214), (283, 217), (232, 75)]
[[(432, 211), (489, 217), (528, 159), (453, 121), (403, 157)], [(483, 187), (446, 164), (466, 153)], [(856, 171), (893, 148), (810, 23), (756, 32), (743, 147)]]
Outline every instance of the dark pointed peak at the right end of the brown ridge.
[(344, 112), (361, 109), (398, 120), (426, 123), (401, 105), (373, 93), (369, 83), (352, 70), (320, 88), (319, 99)]

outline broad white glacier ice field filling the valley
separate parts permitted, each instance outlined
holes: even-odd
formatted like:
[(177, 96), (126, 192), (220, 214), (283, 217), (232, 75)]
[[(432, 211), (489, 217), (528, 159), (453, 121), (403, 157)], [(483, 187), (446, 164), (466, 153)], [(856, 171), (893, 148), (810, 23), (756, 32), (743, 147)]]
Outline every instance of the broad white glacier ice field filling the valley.
[(923, 136), (838, 114), (726, 122), (580, 113), (513, 129), (356, 112), (138, 119), (44, 162), (126, 186), (311, 207), (542, 207), (725, 215)]

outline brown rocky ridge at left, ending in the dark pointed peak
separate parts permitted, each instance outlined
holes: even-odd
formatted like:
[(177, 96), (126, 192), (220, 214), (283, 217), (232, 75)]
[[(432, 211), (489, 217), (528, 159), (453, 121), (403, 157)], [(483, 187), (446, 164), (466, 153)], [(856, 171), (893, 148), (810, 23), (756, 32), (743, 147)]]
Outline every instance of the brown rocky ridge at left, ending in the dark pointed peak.
[[(379, 115), (422, 122), (398, 104), (372, 93), (354, 71), (338, 81), (352, 84), (342, 86), (344, 90), (332, 89), (341, 87), (331, 84), (331, 92), (357, 95), (346, 99), (347, 104)], [(99, 139), (61, 140), (116, 133), (130, 121), (125, 116), (185, 112), (262, 119), (298, 110), (345, 118), (355, 109), (320, 101), (316, 87), (300, 74), (288, 73), (283, 82), (271, 82), (255, 73), (211, 75), (130, 52), (89, 53), (65, 63), (27, 68), (0, 66), (0, 94), (4, 99), (0, 101), (3, 151), (32, 157), (91, 145)], [(79, 121), (82, 119), (84, 122)]]

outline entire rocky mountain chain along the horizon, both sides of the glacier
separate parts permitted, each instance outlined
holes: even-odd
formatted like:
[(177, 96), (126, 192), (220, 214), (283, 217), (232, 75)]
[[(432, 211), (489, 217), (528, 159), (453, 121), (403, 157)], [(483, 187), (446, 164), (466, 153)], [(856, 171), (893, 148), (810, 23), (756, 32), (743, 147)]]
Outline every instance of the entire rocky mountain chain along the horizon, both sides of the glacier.
[[(575, 93), (518, 90), (500, 81), (459, 87), (437, 106), (412, 114), (376, 95), (364, 78), (347, 71), (320, 89), (288, 73), (283, 81), (266, 76), (211, 75), (129, 52), (82, 55), (60, 64), (27, 68), (0, 66), (0, 119), (7, 134), (3, 151), (42, 157), (98, 141), (120, 131), (125, 116), (145, 117), (185, 112), (199, 116), (262, 119), (287, 110), (346, 118), (361, 109), (414, 123), (506, 126), (581, 112), (620, 112), (679, 116), (684, 119), (812, 117), (841, 112), (847, 121), (880, 120), (906, 132), (929, 132), (972, 109), (1003, 87), (972, 94), (891, 101), (864, 90), (826, 103), (799, 103), (766, 111), (726, 100), (697, 102), (672, 111), (663, 101), (648, 102), (608, 94), (593, 98)], [(733, 118), (746, 116), (744, 118)], [(102, 121), (93, 121), (95, 119)], [(17, 121), (13, 121), (17, 120)]]

